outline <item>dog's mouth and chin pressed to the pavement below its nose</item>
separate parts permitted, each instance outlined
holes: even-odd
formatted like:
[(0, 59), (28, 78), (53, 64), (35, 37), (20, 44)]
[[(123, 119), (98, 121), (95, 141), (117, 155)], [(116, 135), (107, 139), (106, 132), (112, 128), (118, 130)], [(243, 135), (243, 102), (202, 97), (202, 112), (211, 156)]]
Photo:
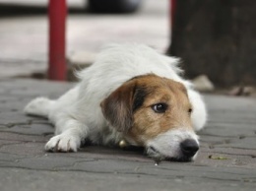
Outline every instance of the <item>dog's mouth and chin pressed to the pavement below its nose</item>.
[(157, 150), (152, 146), (147, 148), (146, 151), (147, 151), (147, 155), (152, 159), (155, 159), (156, 163), (160, 163), (161, 160), (178, 161), (178, 162), (188, 162), (193, 160), (193, 157), (186, 157), (182, 154), (178, 155), (177, 157), (162, 155), (159, 150)]

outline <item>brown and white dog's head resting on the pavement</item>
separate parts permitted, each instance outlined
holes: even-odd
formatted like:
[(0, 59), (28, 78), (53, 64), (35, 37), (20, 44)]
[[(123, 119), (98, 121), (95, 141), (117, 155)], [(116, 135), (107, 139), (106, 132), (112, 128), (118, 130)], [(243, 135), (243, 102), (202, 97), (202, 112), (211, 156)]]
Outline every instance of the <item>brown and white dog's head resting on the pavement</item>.
[(135, 77), (101, 102), (104, 117), (131, 145), (155, 159), (191, 160), (198, 137), (185, 87), (156, 75)]

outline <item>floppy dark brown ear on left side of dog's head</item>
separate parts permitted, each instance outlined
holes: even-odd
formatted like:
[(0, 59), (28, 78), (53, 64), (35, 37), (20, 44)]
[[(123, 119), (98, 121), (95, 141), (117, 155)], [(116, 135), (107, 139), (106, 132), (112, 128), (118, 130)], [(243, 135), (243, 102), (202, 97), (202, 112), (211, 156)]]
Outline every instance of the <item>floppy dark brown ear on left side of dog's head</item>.
[(128, 82), (100, 103), (104, 117), (118, 131), (127, 132), (133, 125), (135, 86), (134, 82)]

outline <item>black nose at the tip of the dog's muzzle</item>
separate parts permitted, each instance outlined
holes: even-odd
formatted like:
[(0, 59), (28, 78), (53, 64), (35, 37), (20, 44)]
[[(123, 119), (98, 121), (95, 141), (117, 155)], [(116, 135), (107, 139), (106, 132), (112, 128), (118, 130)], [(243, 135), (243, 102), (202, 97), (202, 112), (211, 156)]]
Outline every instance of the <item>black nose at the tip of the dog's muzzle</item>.
[(180, 149), (183, 155), (187, 158), (192, 158), (199, 150), (198, 143), (193, 139), (186, 139), (181, 142)]

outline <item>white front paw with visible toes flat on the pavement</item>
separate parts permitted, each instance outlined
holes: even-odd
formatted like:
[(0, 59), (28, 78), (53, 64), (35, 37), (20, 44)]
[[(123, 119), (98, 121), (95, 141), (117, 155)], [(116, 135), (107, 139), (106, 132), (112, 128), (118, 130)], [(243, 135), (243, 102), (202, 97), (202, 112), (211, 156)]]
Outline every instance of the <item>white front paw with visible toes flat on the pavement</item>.
[(47, 152), (77, 152), (81, 140), (77, 136), (60, 134), (52, 137), (45, 145)]

